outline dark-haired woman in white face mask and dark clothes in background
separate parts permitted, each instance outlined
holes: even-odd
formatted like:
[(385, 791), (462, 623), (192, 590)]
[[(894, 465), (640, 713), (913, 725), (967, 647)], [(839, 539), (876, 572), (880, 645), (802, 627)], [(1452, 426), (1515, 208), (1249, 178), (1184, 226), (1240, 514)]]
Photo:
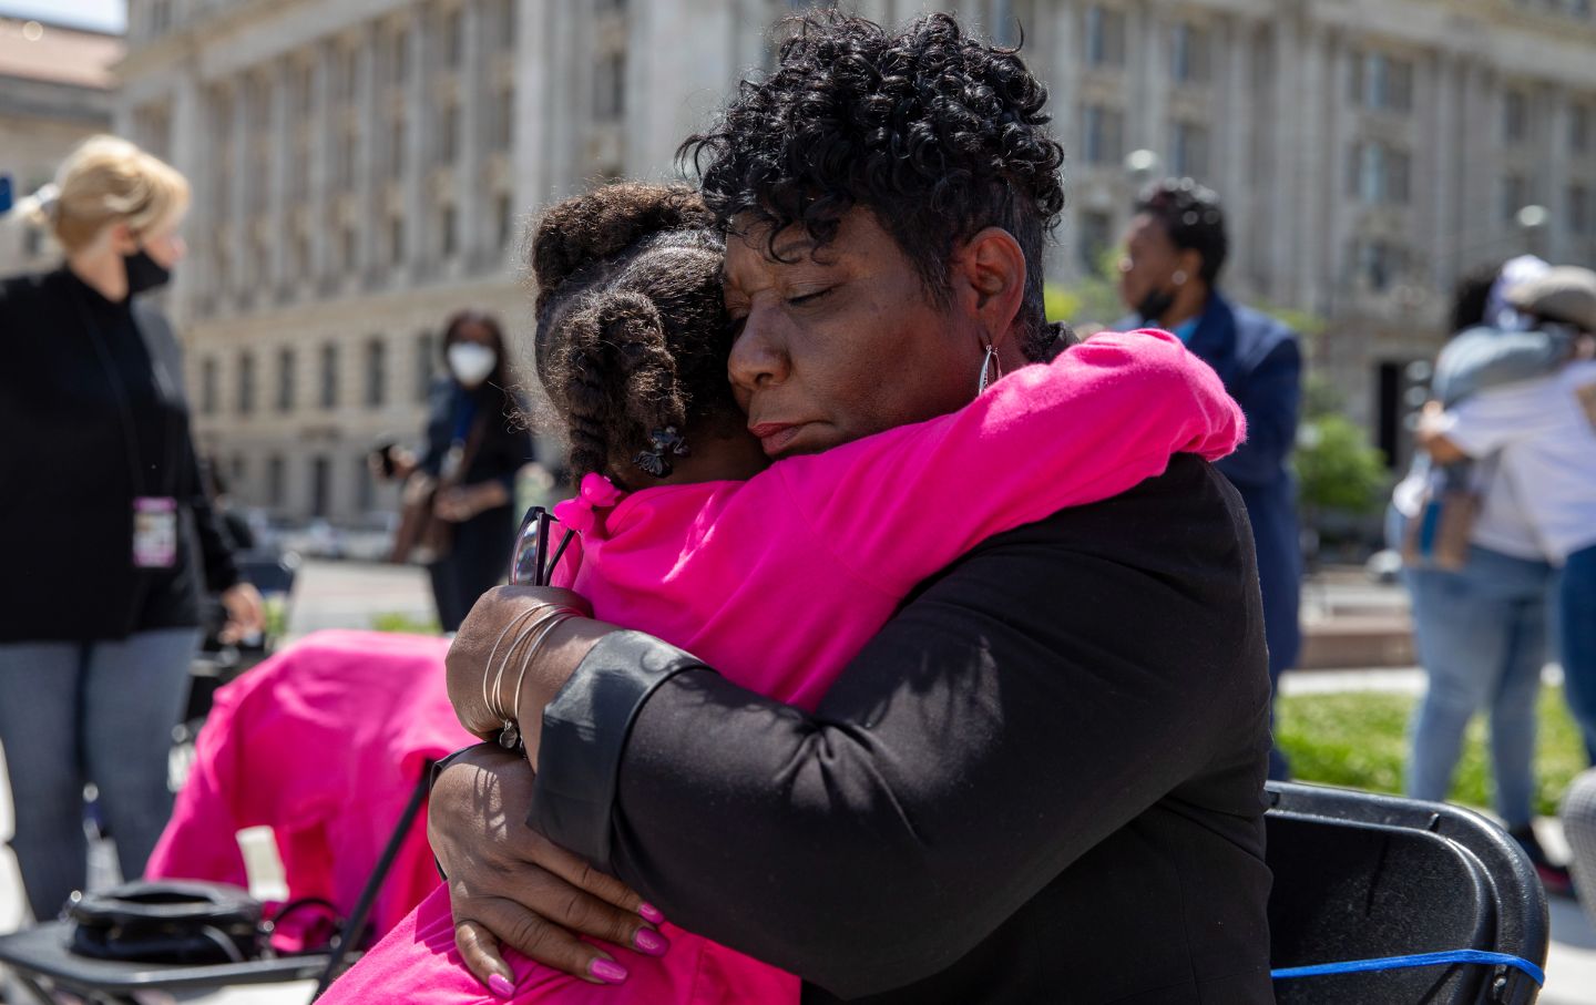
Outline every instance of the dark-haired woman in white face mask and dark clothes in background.
[(516, 474), (531, 461), (531, 434), (509, 391), (498, 319), (460, 311), (444, 329), (448, 376), (433, 389), (426, 453), (388, 450), (381, 474), (404, 480), (394, 558), (420, 557), (444, 632), (460, 629), (477, 597), (503, 576), (516, 536)]

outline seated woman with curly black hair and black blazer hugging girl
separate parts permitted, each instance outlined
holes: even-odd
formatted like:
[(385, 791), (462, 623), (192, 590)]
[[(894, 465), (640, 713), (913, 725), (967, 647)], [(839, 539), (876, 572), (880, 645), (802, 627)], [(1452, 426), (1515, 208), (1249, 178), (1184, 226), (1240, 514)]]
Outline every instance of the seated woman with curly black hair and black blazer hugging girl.
[[(809, 16), (685, 150), (766, 456), (948, 415), (1068, 341), (1041, 303), (1045, 91), (954, 19)], [(576, 603), (488, 593), (452, 692), (517, 619)], [(592, 979), (575, 935), (642, 944), (670, 917), (804, 1002), (1274, 1000), (1262, 613), (1240, 499), (1197, 458), (977, 542), (814, 710), (583, 617), (522, 670), (527, 758), (455, 758), (429, 831), (464, 962), (506, 997), (535, 1000), (496, 938)]]

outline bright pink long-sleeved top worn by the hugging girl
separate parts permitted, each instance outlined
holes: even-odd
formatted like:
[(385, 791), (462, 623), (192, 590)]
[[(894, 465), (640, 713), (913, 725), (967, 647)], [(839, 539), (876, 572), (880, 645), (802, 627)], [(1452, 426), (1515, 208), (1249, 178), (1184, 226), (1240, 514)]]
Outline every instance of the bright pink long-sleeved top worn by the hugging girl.
[[(587, 475), (560, 520), (581, 552), (555, 579), (600, 619), (656, 635), (728, 680), (806, 710), (916, 584), (980, 541), (1213, 461), (1242, 410), (1167, 332), (1104, 333), (1023, 367), (966, 408), (777, 461), (747, 482), (630, 495)], [(573, 547), (573, 550), (576, 550)], [(575, 568), (575, 573), (573, 573)], [(514, 1002), (798, 1002), (798, 978), (664, 925), (670, 951), (611, 949), (630, 978), (594, 986), (508, 952)], [(460, 962), (437, 890), (324, 1005), (495, 1002)]]

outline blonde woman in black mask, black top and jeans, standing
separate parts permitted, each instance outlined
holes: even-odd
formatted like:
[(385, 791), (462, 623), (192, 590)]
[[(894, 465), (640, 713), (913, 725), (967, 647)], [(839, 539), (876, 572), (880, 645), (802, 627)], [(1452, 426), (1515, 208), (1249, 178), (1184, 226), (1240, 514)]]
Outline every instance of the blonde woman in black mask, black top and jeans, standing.
[(85, 885), (85, 783), (144, 873), (201, 589), (228, 632), (262, 622), (201, 488), (177, 340), (139, 297), (184, 257), (187, 207), (171, 166), (89, 139), (19, 207), (65, 260), (0, 281), (0, 745), (38, 919)]

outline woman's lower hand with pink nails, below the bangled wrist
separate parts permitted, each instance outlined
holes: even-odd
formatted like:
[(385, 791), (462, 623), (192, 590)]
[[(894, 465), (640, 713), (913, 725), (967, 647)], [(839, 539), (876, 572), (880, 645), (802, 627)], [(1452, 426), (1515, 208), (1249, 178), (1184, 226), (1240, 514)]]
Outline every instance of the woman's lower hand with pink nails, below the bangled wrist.
[(490, 743), (439, 772), (428, 841), (448, 877), (455, 944), (495, 992), (514, 984), (501, 943), (595, 984), (618, 983), (624, 968), (618, 972), (608, 952), (578, 936), (662, 956), (669, 944), (645, 920), (645, 912), (656, 919), (658, 912), (619, 879), (527, 826), (533, 780), (522, 758)]

